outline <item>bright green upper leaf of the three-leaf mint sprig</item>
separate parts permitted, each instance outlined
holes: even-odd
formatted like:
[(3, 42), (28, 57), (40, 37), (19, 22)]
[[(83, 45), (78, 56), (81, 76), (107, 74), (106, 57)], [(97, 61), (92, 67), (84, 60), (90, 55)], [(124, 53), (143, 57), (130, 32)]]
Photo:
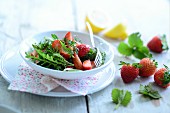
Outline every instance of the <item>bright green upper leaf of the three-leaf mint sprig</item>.
[(141, 34), (139, 32), (133, 33), (128, 36), (128, 43), (130, 47), (141, 47), (143, 46), (143, 41), (140, 39)]

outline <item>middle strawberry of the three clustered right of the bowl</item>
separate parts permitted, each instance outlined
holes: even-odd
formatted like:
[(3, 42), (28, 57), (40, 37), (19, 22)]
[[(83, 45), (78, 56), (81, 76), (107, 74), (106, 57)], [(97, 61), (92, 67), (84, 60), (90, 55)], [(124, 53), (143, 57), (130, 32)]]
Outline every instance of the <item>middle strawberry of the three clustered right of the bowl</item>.
[(157, 68), (157, 62), (150, 58), (143, 58), (140, 63), (141, 68), (139, 69), (139, 76), (149, 77), (153, 75)]

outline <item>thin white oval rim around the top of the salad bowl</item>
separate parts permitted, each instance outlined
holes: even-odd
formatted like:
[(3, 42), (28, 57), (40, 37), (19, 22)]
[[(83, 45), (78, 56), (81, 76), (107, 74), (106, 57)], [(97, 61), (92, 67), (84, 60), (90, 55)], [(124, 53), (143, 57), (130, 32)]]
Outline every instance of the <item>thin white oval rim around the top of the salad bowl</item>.
[[(59, 74), (60, 74), (60, 73), (67, 73), (67, 74), (90, 73), (90, 72), (94, 72), (94, 71), (97, 71), (97, 70), (100, 70), (100, 69), (106, 67), (107, 65), (109, 65), (109, 64), (113, 61), (113, 59), (114, 59), (114, 51), (113, 51), (113, 49), (110, 49), (110, 51), (111, 51), (111, 53), (113, 53), (113, 55), (111, 56), (111, 58), (110, 58), (106, 63), (104, 63), (104, 64), (101, 65), (100, 67), (94, 68), (94, 69), (91, 69), (91, 70), (86, 70), (86, 71), (71, 71), (71, 72), (69, 71), (69, 72), (68, 72), (68, 71), (54, 70), (54, 69), (50, 69), (50, 68), (46, 68), (46, 67), (37, 65), (37, 64), (35, 64), (34, 62), (30, 61), (30, 60), (29, 60), (28, 58), (26, 58), (25, 56), (23, 56), (21, 47), (23, 46), (24, 42), (26, 42), (27, 40), (32, 39), (33, 37), (36, 37), (36, 36), (38, 36), (38, 35), (40, 35), (40, 34), (49, 34), (50, 32), (56, 32), (56, 33), (57, 33), (57, 32), (68, 32), (68, 31), (70, 31), (71, 33), (79, 33), (79, 34), (81, 34), (81, 35), (87, 35), (87, 36), (89, 35), (88, 33), (81, 32), (81, 31), (74, 31), (74, 30), (50, 30), (50, 31), (38, 32), (38, 33), (36, 33), (36, 34), (34, 34), (34, 35), (32, 35), (32, 36), (24, 39), (24, 40), (20, 43), (20, 46), (19, 46), (19, 54), (20, 54), (20, 56), (24, 59), (25, 62), (27, 61), (27, 62), (31, 63), (31, 65), (36, 66), (36, 67), (38, 67), (39, 69), (42, 69), (42, 70), (45, 70), (45, 71), (50, 71), (50, 72), (55, 72), (55, 73), (57, 72), (57, 73), (59, 73)], [(108, 43), (107, 41), (105, 41), (104, 39), (102, 39), (101, 37), (99, 37), (99, 36), (97, 36), (97, 35), (94, 35), (94, 38), (97, 38), (97, 39), (101, 40), (101, 41), (104, 42), (107, 46), (109, 46), (109, 48), (112, 48), (112, 47), (111, 47), (111, 44)], [(27, 63), (27, 62), (26, 62), (26, 63)]]

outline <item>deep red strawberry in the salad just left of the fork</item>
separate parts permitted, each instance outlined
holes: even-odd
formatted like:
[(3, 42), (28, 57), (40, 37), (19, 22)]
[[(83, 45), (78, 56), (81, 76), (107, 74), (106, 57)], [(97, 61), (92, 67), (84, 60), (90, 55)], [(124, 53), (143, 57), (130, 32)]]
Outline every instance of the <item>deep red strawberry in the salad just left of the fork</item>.
[(90, 51), (90, 46), (85, 44), (80, 44), (77, 46), (79, 57), (85, 56)]

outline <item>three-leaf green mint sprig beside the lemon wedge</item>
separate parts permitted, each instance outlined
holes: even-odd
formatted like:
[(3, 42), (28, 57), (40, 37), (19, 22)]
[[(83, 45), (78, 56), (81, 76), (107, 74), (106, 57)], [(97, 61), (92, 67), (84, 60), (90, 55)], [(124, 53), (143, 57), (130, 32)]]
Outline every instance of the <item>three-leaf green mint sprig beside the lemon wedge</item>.
[(149, 53), (149, 49), (143, 45), (143, 41), (141, 40), (141, 34), (139, 32), (132, 33), (128, 36), (128, 43), (120, 42), (118, 46), (118, 51), (122, 55), (131, 56), (138, 59), (142, 59), (147, 57)]

